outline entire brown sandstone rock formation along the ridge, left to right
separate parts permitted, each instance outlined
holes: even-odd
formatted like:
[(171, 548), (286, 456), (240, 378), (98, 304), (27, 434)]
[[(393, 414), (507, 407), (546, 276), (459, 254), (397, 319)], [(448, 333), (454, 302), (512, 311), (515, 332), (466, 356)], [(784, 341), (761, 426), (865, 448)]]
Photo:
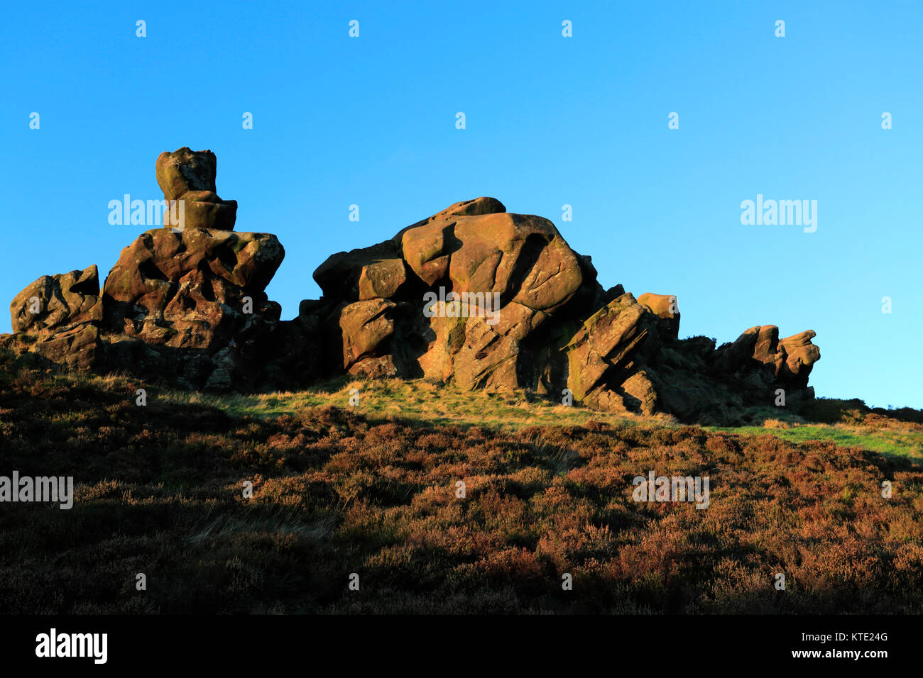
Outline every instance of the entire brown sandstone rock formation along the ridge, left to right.
[(232, 231), (236, 203), (215, 194), (214, 154), (162, 153), (156, 170), (168, 204), (185, 201), (185, 228), (164, 220), (138, 236), (102, 294), (95, 266), (36, 280), (13, 301), (14, 334), (0, 346), (181, 387), (425, 377), (684, 421), (772, 405), (778, 388), (812, 397), (814, 332), (751, 327), (720, 348), (679, 339), (676, 296), (604, 290), (554, 224), (490, 197), (330, 256), (314, 273), (321, 299), (282, 321), (264, 291), (282, 245)]

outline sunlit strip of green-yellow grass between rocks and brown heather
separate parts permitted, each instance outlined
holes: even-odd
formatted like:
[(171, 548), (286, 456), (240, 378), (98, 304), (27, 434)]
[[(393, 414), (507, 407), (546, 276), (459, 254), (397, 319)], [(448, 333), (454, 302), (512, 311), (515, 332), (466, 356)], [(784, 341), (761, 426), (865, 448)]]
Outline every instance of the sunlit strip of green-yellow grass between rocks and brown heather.
[[(59, 378), (73, 384), (96, 387), (124, 387), (134, 393), (134, 380), (123, 375), (67, 374)], [(359, 403), (351, 405), (357, 391)], [(586, 426), (602, 422), (611, 426), (636, 425), (645, 428), (676, 427), (673, 417), (659, 414), (641, 417), (634, 414), (590, 410), (565, 406), (548, 398), (524, 391), (490, 393), (463, 391), (452, 384), (433, 383), (425, 379), (355, 379), (343, 376), (322, 382), (311, 389), (252, 395), (217, 395), (202, 392), (148, 388), (149, 398), (164, 404), (199, 405), (217, 408), (233, 418), (255, 417), (260, 420), (285, 415), (297, 416), (310, 408), (340, 407), (359, 414), (371, 423), (406, 422), (410, 424), (452, 425), (462, 429), (474, 426), (502, 433), (517, 433), (532, 426)], [(841, 401), (818, 400), (820, 407)], [(845, 422), (804, 422), (790, 416), (788, 421), (767, 419), (771, 410), (753, 410), (749, 418), (763, 420), (764, 425), (702, 426), (706, 431), (724, 431), (740, 435), (773, 435), (790, 443), (830, 442), (858, 447), (888, 458), (904, 458), (923, 464), (923, 426), (887, 420), (864, 421), (845, 416)], [(69, 422), (68, 415), (63, 415)]]

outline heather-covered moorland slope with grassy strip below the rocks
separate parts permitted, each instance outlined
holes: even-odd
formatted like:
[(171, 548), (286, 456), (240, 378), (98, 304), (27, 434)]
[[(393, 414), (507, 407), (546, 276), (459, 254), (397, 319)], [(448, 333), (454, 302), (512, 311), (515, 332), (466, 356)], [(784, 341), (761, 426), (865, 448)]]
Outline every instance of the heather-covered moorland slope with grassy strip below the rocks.
[[(137, 387), (0, 363), (0, 474), (78, 483), (70, 511), (0, 505), (0, 609), (923, 612), (915, 424), (727, 432), (398, 381), (140, 408)], [(707, 474), (711, 506), (635, 503), (648, 470)]]

